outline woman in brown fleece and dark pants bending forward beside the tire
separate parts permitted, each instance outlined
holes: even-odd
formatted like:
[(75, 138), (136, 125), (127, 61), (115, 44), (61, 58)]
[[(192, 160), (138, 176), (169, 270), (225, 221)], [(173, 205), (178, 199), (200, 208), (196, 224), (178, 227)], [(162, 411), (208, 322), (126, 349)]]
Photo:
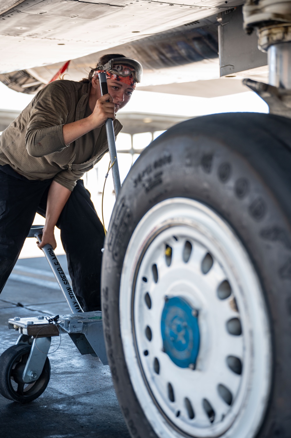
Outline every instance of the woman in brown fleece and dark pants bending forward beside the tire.
[[(109, 94), (101, 96), (98, 72)], [(108, 151), (105, 121), (130, 100), (141, 65), (104, 55), (81, 82), (55, 81), (0, 136), (0, 292), (18, 259), (35, 213), (46, 218), (42, 248), (61, 230), (73, 290), (84, 311), (101, 310), (104, 230), (80, 178)]]

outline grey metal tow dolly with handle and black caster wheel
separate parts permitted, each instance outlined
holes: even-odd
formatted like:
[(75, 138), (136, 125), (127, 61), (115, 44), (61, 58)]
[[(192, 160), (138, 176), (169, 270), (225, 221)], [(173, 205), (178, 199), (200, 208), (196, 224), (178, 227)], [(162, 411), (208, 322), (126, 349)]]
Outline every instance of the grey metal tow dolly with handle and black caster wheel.
[[(28, 237), (41, 241), (43, 226), (32, 226)], [(10, 318), (9, 329), (19, 332), (18, 340), (0, 357), (0, 393), (7, 399), (21, 403), (39, 397), (50, 378), (47, 357), (51, 338), (67, 333), (81, 354), (99, 357), (107, 365), (102, 329), (102, 312), (83, 312), (70, 286), (60, 261), (51, 245), (42, 248), (62, 290), (71, 314)]]

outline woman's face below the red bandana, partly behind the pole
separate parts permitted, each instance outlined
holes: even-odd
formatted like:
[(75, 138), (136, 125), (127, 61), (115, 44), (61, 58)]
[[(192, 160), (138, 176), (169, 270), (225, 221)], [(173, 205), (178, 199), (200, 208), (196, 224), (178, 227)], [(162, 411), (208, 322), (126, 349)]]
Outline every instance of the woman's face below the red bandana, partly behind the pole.
[[(107, 79), (107, 86), (108, 92), (113, 97), (113, 102), (115, 103), (115, 112), (117, 112), (130, 100), (134, 88), (123, 82), (115, 81), (114, 79)], [(99, 99), (101, 97), (101, 91), (99, 80), (96, 76), (92, 78), (92, 88), (95, 90), (97, 99)]]

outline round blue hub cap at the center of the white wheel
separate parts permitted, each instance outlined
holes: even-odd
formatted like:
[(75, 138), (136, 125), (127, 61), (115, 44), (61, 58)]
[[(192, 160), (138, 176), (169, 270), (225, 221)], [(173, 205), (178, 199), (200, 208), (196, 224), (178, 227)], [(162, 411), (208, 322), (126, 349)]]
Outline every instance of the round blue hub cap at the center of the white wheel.
[(167, 299), (161, 315), (164, 351), (181, 368), (195, 368), (200, 333), (198, 312), (180, 297)]

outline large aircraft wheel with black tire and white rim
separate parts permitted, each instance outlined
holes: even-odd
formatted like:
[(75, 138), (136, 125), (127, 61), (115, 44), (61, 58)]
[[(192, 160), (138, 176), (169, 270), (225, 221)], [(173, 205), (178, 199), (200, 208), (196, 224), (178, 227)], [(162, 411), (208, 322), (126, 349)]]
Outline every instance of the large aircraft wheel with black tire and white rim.
[(291, 120), (178, 124), (140, 155), (102, 261), (112, 378), (132, 437), (289, 438)]

